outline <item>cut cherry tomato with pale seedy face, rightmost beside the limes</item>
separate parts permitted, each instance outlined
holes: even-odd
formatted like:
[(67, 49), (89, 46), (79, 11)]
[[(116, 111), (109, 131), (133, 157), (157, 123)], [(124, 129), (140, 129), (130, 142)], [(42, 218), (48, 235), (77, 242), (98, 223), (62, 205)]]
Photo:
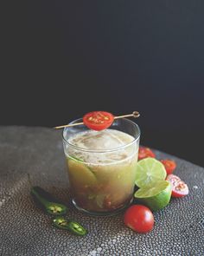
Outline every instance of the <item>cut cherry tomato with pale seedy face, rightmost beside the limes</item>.
[(169, 174), (166, 180), (171, 183), (172, 197), (182, 197), (188, 194), (187, 184), (182, 181), (178, 176), (174, 174)]

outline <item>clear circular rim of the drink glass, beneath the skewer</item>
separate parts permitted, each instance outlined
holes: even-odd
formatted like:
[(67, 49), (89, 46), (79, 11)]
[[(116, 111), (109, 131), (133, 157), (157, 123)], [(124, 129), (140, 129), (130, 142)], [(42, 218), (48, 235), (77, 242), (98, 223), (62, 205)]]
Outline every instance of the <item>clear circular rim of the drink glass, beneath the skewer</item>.
[[(81, 120), (82, 120), (82, 118), (79, 118), (79, 119), (76, 119), (76, 120), (73, 120), (73, 121), (69, 122), (68, 124), (73, 124), (73, 123), (76, 122), (76, 121), (79, 121), (79, 122), (80, 122)], [(66, 131), (68, 128), (63, 128), (63, 130), (62, 130), (62, 139), (63, 139), (63, 141), (65, 141), (70, 147), (72, 147), (72, 148), (74, 148), (74, 149), (77, 149), (77, 150), (80, 150), (80, 151), (83, 151), (83, 152), (90, 152), (90, 153), (107, 153), (107, 152), (118, 151), (118, 150), (127, 148), (127, 147), (131, 146), (132, 144), (134, 144), (135, 142), (137, 142), (137, 141), (139, 140), (139, 138), (140, 138), (140, 135), (141, 135), (140, 128), (139, 128), (139, 126), (137, 125), (136, 122), (131, 121), (131, 120), (127, 119), (127, 118), (121, 118), (121, 120), (128, 121), (128, 122), (131, 123), (131, 125), (135, 126), (135, 128), (137, 128), (138, 135), (137, 135), (136, 137), (134, 137), (134, 140), (133, 140), (133, 141), (131, 141), (131, 142), (129, 142), (129, 143), (123, 145), (123, 146), (120, 146), (120, 147), (118, 147), (118, 148), (112, 148), (112, 149), (87, 149), (87, 148), (80, 148), (80, 147), (78, 147), (78, 146), (76, 146), (76, 145), (73, 145), (72, 143), (70, 143), (69, 141), (67, 141), (67, 139), (65, 138), (64, 133), (65, 133), (65, 131)], [(83, 125), (83, 124), (81, 124), (81, 125)]]

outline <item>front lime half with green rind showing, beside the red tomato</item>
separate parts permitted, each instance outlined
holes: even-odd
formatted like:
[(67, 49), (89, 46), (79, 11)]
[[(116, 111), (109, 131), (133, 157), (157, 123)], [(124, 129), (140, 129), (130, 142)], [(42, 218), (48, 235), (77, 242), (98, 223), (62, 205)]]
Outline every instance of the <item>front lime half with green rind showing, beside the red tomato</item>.
[(158, 211), (169, 204), (171, 185), (169, 181), (156, 181), (151, 186), (139, 188), (134, 196), (152, 211)]

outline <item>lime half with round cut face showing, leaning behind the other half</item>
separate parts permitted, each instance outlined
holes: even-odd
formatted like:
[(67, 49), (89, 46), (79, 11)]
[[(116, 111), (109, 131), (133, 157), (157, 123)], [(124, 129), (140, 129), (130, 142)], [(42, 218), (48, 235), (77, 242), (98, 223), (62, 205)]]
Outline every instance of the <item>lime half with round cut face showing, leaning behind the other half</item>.
[(137, 163), (136, 185), (137, 187), (149, 186), (156, 181), (166, 178), (166, 170), (161, 161), (155, 158), (145, 158)]

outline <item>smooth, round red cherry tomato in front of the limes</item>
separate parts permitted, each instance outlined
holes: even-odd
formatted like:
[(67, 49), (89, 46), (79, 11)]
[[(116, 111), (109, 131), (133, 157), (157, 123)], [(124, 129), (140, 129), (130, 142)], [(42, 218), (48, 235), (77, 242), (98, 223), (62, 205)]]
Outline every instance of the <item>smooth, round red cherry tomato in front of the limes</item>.
[(124, 213), (124, 224), (137, 233), (147, 233), (154, 226), (154, 216), (148, 207), (133, 205)]

